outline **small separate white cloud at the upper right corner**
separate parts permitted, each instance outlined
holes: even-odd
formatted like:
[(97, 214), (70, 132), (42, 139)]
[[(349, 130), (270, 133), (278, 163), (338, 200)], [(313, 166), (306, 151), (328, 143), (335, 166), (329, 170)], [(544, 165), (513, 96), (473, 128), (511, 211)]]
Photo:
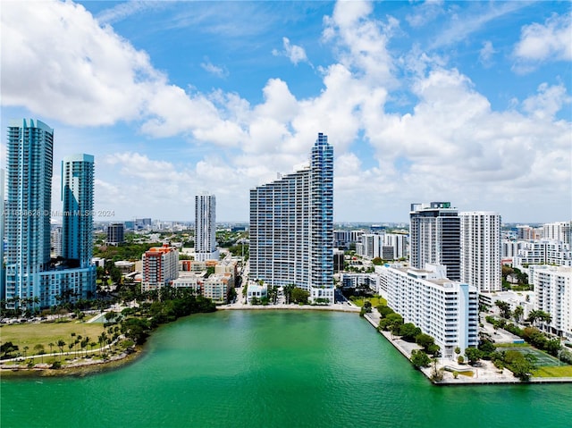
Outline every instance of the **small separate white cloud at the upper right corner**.
[(572, 60), (572, 13), (553, 14), (543, 24), (524, 26), (513, 55), (515, 70), (521, 72), (538, 63)]

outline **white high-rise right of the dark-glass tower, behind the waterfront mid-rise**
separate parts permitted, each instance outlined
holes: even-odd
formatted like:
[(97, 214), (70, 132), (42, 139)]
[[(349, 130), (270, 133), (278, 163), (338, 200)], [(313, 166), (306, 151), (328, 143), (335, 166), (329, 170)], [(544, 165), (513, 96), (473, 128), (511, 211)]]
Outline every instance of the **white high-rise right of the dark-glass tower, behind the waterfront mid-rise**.
[(461, 282), (482, 293), (501, 291), (501, 215), (477, 211), (458, 217)]

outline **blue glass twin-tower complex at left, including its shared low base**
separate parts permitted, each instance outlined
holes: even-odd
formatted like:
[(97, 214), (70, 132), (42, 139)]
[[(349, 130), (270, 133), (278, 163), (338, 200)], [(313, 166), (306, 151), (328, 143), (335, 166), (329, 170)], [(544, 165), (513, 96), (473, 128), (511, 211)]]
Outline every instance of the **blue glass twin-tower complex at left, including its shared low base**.
[(65, 209), (72, 206), (84, 212), (75, 213), (82, 214), (75, 217), (63, 213), (64, 227), (68, 228), (64, 256), (70, 260), (56, 263), (50, 259), (53, 153), (54, 130), (46, 123), (27, 119), (10, 122), (4, 212), (8, 307), (53, 306), (60, 301), (89, 298), (96, 291), (96, 268), (90, 264), (93, 156), (76, 156), (78, 163), (73, 156), (64, 161), (70, 168), (63, 171)]

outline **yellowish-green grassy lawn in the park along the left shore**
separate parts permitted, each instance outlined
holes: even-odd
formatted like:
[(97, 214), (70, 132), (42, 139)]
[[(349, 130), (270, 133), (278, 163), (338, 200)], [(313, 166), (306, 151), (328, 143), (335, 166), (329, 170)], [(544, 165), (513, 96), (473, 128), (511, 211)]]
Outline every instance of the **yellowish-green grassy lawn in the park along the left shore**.
[[(83, 338), (89, 337), (89, 341), (97, 342), (97, 336), (104, 331), (102, 323), (82, 323), (71, 321), (69, 323), (25, 323), (14, 325), (3, 325), (0, 327), (0, 340), (2, 343), (12, 342), (23, 353), (23, 349), (27, 346), (29, 349), (27, 355), (34, 354), (34, 346), (44, 345), (46, 353), (50, 352), (48, 343), (56, 344), (58, 340), (63, 340), (66, 344), (71, 341), (71, 333), (80, 335)], [(73, 338), (75, 340), (75, 338)], [(68, 350), (67, 345), (64, 350)], [(59, 352), (59, 348), (54, 346), (53, 352)]]

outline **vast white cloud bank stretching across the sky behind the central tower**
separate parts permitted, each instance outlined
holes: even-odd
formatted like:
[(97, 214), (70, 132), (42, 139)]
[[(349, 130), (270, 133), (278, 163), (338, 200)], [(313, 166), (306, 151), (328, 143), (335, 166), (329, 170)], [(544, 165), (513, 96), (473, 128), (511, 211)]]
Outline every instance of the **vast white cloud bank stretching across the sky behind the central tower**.
[[(449, 34), (466, 37), (514, 7), (502, 5)], [(445, 59), (419, 46), (394, 58), (388, 43), (400, 23), (375, 20), (372, 11), (372, 4), (340, 2), (324, 18), (324, 48), (337, 57), (317, 69), (319, 93), (297, 98), (289, 81), (270, 77), (262, 101), (251, 105), (238, 93), (206, 94), (171, 84), (145, 52), (100, 27), (80, 5), (3, 4), (2, 38), (13, 43), (3, 44), (2, 103), (72, 126), (128, 122), (147, 137), (176, 137), (181, 147), (199, 147), (199, 159), (181, 156), (185, 164), (139, 148), (99, 156), (101, 209), (116, 204), (145, 214), (157, 207), (161, 213), (154, 216), (191, 219), (193, 195), (208, 190), (226, 196), (217, 198), (222, 220), (246, 220), (248, 189), (305, 163), (316, 133), (324, 132), (336, 156), (339, 220), (362, 213), (368, 215), (364, 220), (397, 220), (386, 216), (390, 208), (404, 213), (403, 219), (411, 202), (432, 199), (501, 211), (507, 189), (515, 200), (552, 201), (553, 211), (564, 212), (570, 122), (555, 115), (569, 103), (565, 86), (543, 84), (509, 110), (495, 111)], [(284, 41), (286, 46), (290, 60), (294, 55), (303, 61), (305, 54), (294, 54), (296, 46)], [(490, 58), (492, 43), (481, 53)], [(208, 61), (204, 66), (216, 70)], [(403, 72), (410, 80), (398, 80)], [(405, 85), (415, 104), (408, 113), (388, 113), (387, 100)], [(374, 159), (357, 157), (354, 144), (362, 137)]]

